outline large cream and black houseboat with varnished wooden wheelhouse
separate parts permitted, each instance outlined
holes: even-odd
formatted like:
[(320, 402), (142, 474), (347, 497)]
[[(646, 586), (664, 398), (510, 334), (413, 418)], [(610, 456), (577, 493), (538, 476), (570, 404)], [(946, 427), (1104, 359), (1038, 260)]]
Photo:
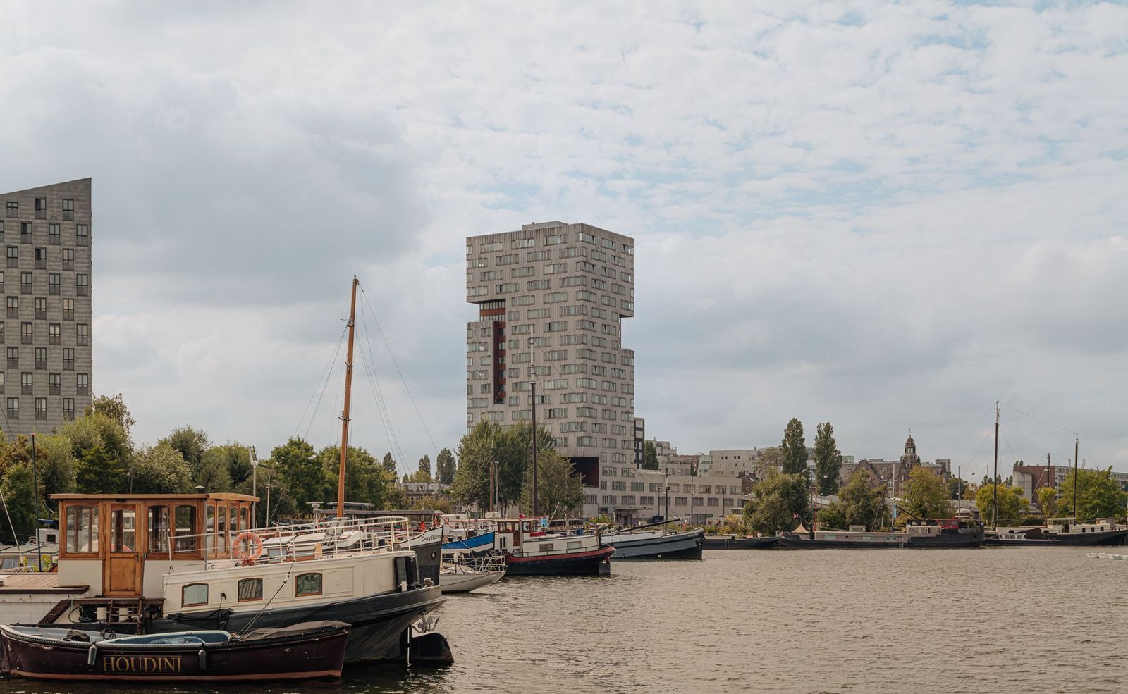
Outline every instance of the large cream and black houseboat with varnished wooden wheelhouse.
[[(418, 578), (404, 518), (256, 532), (257, 499), (246, 495), (52, 498), (58, 570), (5, 575), (0, 622), (165, 633), (341, 621), (351, 626), (345, 661), (368, 662), (399, 653), (413, 624), (443, 600)], [(428, 637), (415, 648), (449, 660), (442, 637)]]

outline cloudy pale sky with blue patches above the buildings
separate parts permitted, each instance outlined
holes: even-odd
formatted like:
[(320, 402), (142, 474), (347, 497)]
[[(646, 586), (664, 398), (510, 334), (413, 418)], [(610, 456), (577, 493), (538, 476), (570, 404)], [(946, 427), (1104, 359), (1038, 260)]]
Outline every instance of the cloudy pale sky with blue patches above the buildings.
[[(134, 438), (402, 470), (465, 431), (465, 238), (633, 237), (635, 411), (830, 421), (964, 477), (1128, 471), (1128, 7), (0, 5), (0, 190), (94, 179), (94, 375)], [(381, 415), (381, 411), (385, 415)], [(390, 426), (389, 426), (390, 425)], [(971, 475), (967, 473), (971, 471)]]

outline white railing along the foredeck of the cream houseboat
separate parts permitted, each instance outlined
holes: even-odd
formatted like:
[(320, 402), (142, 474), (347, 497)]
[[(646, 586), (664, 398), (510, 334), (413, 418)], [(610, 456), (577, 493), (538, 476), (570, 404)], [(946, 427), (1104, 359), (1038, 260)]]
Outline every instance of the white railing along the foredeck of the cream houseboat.
[(411, 534), (411, 522), (403, 516), (333, 518), (254, 530), (224, 528), (193, 535), (178, 533), (173, 536), (167, 531), (165, 545), (169, 560), (183, 558), (182, 548), (194, 548), (195, 553), (195, 548), (202, 545), (206, 566), (218, 568), (229, 566), (228, 561), (268, 563), (406, 550)]

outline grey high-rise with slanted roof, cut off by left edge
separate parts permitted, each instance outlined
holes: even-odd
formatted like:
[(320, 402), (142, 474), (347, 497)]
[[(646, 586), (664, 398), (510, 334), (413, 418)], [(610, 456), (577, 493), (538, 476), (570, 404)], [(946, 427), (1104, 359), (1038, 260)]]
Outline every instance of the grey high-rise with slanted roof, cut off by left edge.
[(3, 435), (50, 433), (90, 404), (90, 179), (0, 194)]

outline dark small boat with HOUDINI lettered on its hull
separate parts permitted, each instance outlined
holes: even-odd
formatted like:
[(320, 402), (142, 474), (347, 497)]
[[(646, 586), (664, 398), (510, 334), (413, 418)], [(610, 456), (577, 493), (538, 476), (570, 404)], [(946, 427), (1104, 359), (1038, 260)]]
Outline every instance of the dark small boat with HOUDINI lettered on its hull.
[(306, 622), (245, 635), (184, 631), (117, 637), (0, 625), (8, 671), (37, 679), (209, 682), (341, 676), (349, 625)]

